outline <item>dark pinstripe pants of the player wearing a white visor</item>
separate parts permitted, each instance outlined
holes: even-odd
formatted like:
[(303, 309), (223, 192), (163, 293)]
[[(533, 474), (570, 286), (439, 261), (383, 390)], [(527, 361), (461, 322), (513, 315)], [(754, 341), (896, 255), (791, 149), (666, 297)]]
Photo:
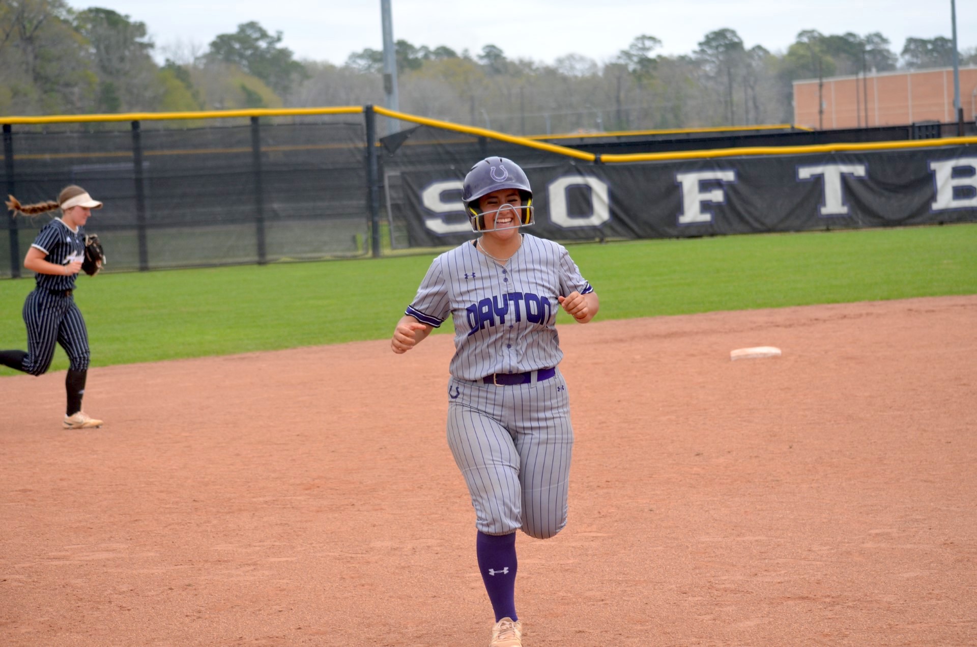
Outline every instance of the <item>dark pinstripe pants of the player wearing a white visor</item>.
[(67, 353), (72, 370), (88, 370), (88, 330), (72, 297), (35, 289), (23, 302), (23, 323), (27, 324), (24, 372), (47, 372), (55, 357), (56, 343)]

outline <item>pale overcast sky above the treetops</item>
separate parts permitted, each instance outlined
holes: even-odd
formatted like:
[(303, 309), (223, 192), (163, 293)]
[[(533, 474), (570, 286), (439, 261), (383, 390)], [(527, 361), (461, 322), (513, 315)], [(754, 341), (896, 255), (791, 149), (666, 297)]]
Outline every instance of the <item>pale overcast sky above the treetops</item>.
[[(380, 0), (68, 0), (145, 22), (157, 50), (181, 43), (206, 50), (214, 36), (257, 21), (297, 59), (341, 65), (353, 52), (381, 49)], [(606, 63), (640, 34), (658, 54), (691, 54), (716, 29), (746, 47), (784, 52), (802, 29), (825, 34), (880, 31), (898, 55), (908, 37), (952, 36), (951, 0), (391, 0), (394, 38), (473, 55), (491, 44), (510, 59), (543, 63), (581, 54)], [(959, 49), (977, 46), (977, 2), (956, 2)], [(161, 56), (157, 51), (157, 57)]]

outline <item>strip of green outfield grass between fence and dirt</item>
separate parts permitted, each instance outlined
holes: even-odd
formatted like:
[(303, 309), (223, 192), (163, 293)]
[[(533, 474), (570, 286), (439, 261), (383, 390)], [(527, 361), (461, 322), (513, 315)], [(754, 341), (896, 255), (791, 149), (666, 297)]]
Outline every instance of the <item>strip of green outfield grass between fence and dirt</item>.
[[(570, 249), (602, 320), (977, 293), (972, 224)], [(75, 298), (96, 367), (381, 339), (432, 257), (108, 274), (80, 278)], [(0, 348), (25, 348), (33, 284), (0, 280)], [(65, 367), (59, 349), (52, 369)]]

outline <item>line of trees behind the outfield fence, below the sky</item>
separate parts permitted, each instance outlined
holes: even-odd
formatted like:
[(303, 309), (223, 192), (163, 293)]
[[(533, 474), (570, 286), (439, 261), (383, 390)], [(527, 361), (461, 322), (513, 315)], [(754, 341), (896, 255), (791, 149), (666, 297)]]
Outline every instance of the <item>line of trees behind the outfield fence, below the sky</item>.
[[(157, 49), (147, 25), (109, 9), (75, 11), (64, 0), (0, 4), (0, 114), (82, 114), (225, 108), (383, 105), (383, 53), (342, 65), (299, 61), (282, 33), (258, 22), (206, 48)], [(786, 52), (747, 46), (734, 29), (698, 48), (658, 54), (634, 37), (613, 60), (568, 54), (545, 64), (396, 42), (400, 108), (516, 134), (787, 123), (798, 79), (953, 65), (948, 38), (908, 38), (897, 54), (879, 32), (797, 34)], [(958, 53), (977, 65), (977, 48)], [(164, 63), (159, 65), (157, 60)]]

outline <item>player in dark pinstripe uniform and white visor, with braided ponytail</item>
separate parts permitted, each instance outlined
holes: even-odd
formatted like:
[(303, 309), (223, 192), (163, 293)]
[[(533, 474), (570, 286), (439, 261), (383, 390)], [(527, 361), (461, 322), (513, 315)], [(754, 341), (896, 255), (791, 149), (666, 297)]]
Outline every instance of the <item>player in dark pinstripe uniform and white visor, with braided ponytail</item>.
[(41, 229), (34, 239), (23, 267), (32, 270), (37, 285), (23, 302), (23, 322), (27, 324), (27, 352), (0, 351), (0, 364), (31, 375), (41, 375), (51, 367), (55, 343), (67, 353), (70, 367), (64, 386), (67, 390), (65, 429), (101, 427), (102, 420), (81, 410), (88, 376), (88, 330), (81, 311), (74, 304), (71, 293), (85, 257), (85, 232), (82, 229), (92, 215), (101, 209), (102, 202), (93, 200), (81, 187), (65, 187), (57, 202), (21, 204), (10, 196), (7, 206), (25, 215), (34, 215), (61, 208), (61, 218), (55, 218)]

